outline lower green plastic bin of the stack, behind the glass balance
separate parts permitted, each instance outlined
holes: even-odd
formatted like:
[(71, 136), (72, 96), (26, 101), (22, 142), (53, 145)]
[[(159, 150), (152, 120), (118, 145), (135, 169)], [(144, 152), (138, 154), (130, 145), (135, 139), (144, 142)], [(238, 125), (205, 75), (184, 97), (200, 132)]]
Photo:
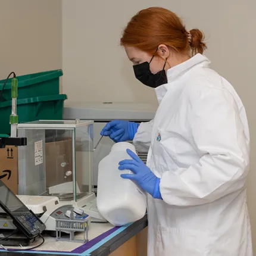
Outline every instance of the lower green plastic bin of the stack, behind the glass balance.
[[(67, 95), (50, 95), (17, 99), (18, 123), (37, 120), (62, 120)], [(0, 133), (10, 134), (11, 101), (0, 103)]]

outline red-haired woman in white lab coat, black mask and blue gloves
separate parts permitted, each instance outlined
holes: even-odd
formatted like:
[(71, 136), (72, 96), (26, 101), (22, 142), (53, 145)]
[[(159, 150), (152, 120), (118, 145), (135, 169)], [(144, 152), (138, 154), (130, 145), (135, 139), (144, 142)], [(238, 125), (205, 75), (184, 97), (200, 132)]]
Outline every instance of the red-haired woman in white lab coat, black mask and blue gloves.
[(121, 38), (159, 107), (149, 123), (115, 120), (101, 134), (148, 151), (145, 165), (127, 150), (119, 169), (148, 192), (150, 256), (252, 256), (248, 121), (235, 89), (202, 55), (203, 39), (156, 7), (136, 14)]

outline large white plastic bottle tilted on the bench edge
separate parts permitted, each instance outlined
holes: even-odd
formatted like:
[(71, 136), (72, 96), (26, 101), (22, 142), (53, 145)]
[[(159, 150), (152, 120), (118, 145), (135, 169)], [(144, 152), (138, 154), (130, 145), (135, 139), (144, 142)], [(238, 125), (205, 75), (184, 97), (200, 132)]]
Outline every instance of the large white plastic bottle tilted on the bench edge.
[(132, 173), (118, 170), (121, 160), (132, 159), (126, 152), (135, 147), (128, 142), (115, 143), (107, 157), (99, 163), (97, 208), (99, 213), (114, 226), (123, 226), (141, 219), (146, 213), (146, 194), (132, 180), (120, 174)]

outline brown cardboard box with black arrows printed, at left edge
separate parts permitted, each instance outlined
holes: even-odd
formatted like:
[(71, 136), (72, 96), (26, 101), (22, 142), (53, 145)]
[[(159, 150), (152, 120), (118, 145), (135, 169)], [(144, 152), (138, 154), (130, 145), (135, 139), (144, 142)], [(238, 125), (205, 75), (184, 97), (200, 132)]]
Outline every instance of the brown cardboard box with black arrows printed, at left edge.
[(15, 146), (0, 148), (0, 179), (17, 195), (18, 149)]

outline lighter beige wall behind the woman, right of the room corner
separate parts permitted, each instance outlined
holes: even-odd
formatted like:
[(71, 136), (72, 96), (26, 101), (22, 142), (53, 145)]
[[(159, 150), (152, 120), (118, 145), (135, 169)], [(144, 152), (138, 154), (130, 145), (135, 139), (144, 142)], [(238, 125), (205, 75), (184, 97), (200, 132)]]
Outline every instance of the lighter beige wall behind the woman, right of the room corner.
[[(136, 81), (118, 46), (129, 18), (150, 6), (181, 15), (188, 29), (204, 30), (212, 67), (229, 80), (245, 104), (251, 130), (248, 204), (256, 239), (256, 1), (63, 0), (64, 90), (70, 101), (153, 102), (154, 90)], [(256, 251), (256, 242), (254, 242)]]

